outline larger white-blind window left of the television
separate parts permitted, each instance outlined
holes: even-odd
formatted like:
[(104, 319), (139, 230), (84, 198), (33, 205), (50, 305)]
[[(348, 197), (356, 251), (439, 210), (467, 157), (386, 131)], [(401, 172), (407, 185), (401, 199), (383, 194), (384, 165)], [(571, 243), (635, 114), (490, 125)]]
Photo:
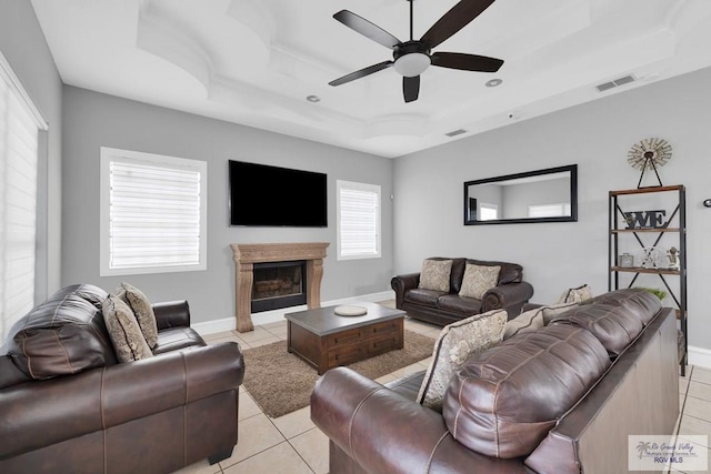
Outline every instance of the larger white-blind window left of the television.
[(101, 148), (101, 276), (207, 270), (207, 171)]

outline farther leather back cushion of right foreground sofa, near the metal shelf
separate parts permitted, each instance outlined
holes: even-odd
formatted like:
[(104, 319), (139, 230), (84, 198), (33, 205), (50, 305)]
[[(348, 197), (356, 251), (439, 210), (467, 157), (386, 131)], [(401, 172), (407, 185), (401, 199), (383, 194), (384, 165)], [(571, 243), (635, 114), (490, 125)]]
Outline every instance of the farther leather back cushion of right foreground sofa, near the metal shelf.
[[(619, 299), (612, 304), (583, 304), (553, 319), (550, 324), (584, 327), (600, 340), (611, 356), (618, 356), (642, 332), (644, 321), (649, 321), (661, 309), (659, 300), (657, 305), (650, 304), (645, 310), (633, 301), (624, 304), (623, 300)], [(612, 302), (612, 299), (607, 301)]]

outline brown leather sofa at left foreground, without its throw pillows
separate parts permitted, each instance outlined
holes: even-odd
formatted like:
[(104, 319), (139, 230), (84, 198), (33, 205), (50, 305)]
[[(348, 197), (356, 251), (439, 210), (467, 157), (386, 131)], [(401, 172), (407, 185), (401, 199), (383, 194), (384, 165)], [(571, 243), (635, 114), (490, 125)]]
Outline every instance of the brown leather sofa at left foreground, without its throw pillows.
[(186, 301), (153, 305), (156, 356), (117, 363), (92, 285), (58, 291), (0, 347), (1, 473), (169, 473), (237, 444), (237, 343), (207, 345)]

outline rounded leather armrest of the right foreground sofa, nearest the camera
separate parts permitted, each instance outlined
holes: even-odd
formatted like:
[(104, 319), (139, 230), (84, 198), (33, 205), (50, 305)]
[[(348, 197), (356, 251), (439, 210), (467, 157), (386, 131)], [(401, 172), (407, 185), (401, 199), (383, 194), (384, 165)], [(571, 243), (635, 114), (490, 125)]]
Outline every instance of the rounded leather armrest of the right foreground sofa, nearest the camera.
[(331, 369), (317, 382), (311, 420), (367, 472), (523, 472), (518, 461), (468, 450), (442, 415), (347, 367)]

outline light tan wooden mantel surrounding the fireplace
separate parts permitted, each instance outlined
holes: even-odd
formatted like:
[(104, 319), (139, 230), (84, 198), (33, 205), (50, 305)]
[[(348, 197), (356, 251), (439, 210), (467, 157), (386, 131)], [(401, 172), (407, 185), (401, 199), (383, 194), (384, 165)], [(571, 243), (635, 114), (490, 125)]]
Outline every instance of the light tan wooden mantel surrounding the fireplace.
[(306, 261), (307, 305), (309, 309), (321, 307), (321, 279), (328, 242), (233, 243), (230, 246), (234, 259), (236, 316), (239, 332), (254, 330), (251, 314), (254, 263)]

